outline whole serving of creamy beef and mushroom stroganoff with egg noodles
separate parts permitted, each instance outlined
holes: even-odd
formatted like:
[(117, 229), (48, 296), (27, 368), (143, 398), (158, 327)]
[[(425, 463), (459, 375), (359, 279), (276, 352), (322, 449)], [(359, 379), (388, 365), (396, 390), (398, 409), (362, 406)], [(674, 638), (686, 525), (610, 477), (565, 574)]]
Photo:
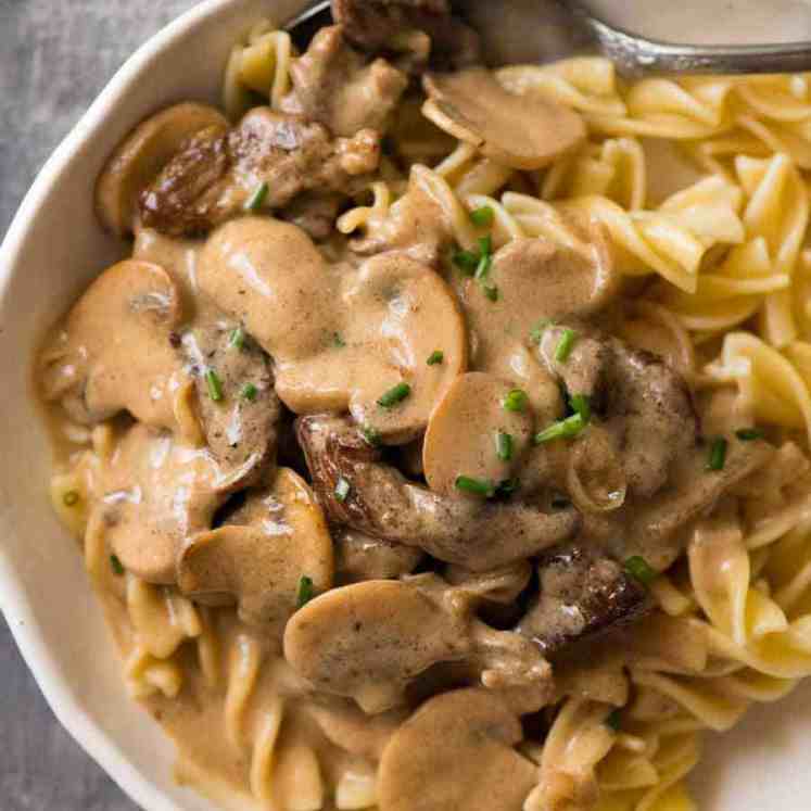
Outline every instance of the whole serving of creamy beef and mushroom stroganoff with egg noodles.
[(811, 674), (811, 77), (333, 16), (121, 144), (38, 358), (128, 688), (223, 808), (693, 809)]

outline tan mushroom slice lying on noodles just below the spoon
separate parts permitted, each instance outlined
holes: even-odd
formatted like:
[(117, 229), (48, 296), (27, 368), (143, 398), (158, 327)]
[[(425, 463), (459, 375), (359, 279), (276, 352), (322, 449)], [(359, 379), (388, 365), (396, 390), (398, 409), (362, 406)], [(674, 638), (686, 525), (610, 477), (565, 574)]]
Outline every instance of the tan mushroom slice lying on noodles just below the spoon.
[(573, 110), (512, 93), (482, 67), (429, 73), (422, 87), (428, 119), (515, 169), (541, 169), (585, 140), (585, 124)]

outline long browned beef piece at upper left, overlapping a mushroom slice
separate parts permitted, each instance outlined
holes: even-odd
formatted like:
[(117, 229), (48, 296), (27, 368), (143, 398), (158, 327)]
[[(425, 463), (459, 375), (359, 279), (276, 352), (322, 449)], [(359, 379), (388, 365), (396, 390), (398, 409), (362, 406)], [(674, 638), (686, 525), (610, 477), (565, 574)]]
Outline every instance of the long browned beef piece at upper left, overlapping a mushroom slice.
[(265, 208), (315, 189), (353, 194), (379, 160), (373, 130), (333, 139), (320, 124), (256, 107), (231, 130), (198, 132), (141, 192), (141, 221), (173, 236), (205, 233), (242, 213), (262, 183)]

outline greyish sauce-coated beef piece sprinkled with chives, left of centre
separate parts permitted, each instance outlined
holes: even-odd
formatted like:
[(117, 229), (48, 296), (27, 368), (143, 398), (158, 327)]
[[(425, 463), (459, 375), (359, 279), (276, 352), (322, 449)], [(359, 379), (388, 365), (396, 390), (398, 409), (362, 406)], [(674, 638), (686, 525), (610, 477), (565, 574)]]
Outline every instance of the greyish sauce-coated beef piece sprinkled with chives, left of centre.
[(195, 327), (182, 343), (208, 447), (232, 471), (235, 484), (255, 481), (276, 452), (281, 413), (267, 356), (232, 325)]

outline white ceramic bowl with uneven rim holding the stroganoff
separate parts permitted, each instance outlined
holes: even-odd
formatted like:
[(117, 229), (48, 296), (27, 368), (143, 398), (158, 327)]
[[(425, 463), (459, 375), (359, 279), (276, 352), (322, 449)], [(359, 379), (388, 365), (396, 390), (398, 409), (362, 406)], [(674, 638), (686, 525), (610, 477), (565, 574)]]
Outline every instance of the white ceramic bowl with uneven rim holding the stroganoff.
[[(153, 37), (54, 152), (0, 250), (0, 599), (54, 713), (147, 811), (212, 811), (172, 781), (173, 747), (127, 696), (121, 663), (75, 543), (51, 512), (50, 452), (31, 394), (45, 330), (123, 246), (93, 216), (94, 179), (147, 114), (181, 99), (216, 101), (230, 46), (263, 16), (303, 0), (208, 0)], [(803, 700), (804, 699), (804, 700)], [(705, 811), (811, 804), (811, 688), (758, 708), (734, 733), (708, 737), (693, 784)]]

